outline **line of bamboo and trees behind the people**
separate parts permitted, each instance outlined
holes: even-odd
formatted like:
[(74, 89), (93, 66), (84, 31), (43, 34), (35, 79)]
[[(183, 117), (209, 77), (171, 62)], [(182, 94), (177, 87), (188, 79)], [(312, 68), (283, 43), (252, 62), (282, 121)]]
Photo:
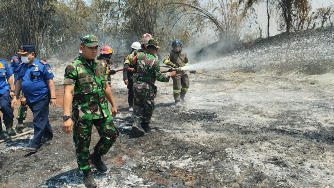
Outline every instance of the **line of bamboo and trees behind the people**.
[[(35, 45), (41, 57), (75, 55), (83, 34), (126, 54), (133, 41), (150, 33), (162, 50), (173, 39), (184, 46), (234, 42), (280, 32), (333, 25), (334, 6), (311, 9), (312, 0), (5, 0), (0, 1), (0, 56), (10, 58), (21, 45)], [(258, 7), (265, 7), (259, 17)], [(260, 19), (268, 20), (265, 27)], [(253, 38), (248, 28), (256, 28)], [(247, 30), (248, 29), (248, 30)], [(206, 33), (213, 33), (206, 35)], [(205, 37), (203, 37), (205, 36)], [(194, 38), (202, 38), (194, 40)], [(203, 46), (204, 47), (204, 46)]]

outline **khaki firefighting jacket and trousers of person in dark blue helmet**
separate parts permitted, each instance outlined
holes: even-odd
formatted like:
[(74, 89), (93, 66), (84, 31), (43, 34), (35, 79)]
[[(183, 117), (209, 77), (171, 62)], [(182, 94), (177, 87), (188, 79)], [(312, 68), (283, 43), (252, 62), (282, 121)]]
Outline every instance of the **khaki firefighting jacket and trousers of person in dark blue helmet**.
[[(186, 52), (169, 52), (165, 59), (164, 64), (170, 67), (184, 67), (188, 64), (188, 57)], [(173, 77), (173, 95), (176, 102), (184, 101), (185, 95), (189, 88), (189, 78), (186, 71), (177, 71), (176, 76)]]

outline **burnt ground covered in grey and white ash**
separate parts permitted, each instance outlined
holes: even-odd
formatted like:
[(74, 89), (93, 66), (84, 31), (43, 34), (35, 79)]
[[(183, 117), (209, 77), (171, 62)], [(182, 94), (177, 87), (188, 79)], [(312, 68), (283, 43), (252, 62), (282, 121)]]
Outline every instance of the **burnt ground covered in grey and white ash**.
[[(280, 63), (276, 46), (270, 47), (317, 37), (325, 56), (311, 50), (305, 58), (284, 56)], [(259, 64), (252, 57), (246, 59), (251, 63), (203, 71), (220, 78), (191, 74), (187, 104), (181, 108), (173, 105), (172, 82), (157, 82), (152, 129), (142, 137), (131, 131), (122, 74), (113, 75), (119, 111), (114, 120), (121, 135), (103, 157), (108, 171), (92, 168), (98, 187), (332, 187), (333, 28), (270, 39), (215, 60), (224, 64), (238, 54), (256, 56), (258, 50), (271, 49), (275, 62), (265, 63), (266, 57), (258, 55), (263, 57)], [(56, 89), (60, 102), (62, 86)], [(28, 116), (24, 131), (33, 127), (30, 111)], [(72, 134), (61, 131), (61, 116), (62, 107), (50, 107), (54, 139), (35, 154), (20, 150), (31, 134), (0, 143), (0, 187), (84, 187)], [(95, 129), (92, 135), (91, 151), (99, 138)]]

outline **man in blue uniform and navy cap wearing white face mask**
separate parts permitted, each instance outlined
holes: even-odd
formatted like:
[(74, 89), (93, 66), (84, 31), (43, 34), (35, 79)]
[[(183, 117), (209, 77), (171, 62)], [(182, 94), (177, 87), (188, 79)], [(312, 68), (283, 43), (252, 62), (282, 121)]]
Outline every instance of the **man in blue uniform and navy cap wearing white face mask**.
[(34, 138), (24, 149), (27, 152), (37, 152), (41, 139), (51, 140), (53, 132), (49, 123), (49, 103), (57, 107), (53, 73), (50, 65), (36, 58), (35, 46), (21, 46), (21, 60), (24, 64), (19, 67), (12, 108), (21, 89), (27, 99), (28, 106), (34, 117)]

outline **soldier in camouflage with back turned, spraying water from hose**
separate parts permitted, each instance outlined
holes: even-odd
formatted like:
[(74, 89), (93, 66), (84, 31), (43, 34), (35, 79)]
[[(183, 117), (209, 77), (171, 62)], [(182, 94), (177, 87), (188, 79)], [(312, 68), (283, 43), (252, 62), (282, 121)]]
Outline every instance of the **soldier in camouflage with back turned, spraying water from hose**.
[[(132, 130), (138, 134), (144, 134), (143, 128), (148, 127), (149, 120), (154, 110), (154, 94), (157, 87), (154, 86), (155, 80), (168, 82), (170, 77), (176, 75), (176, 71), (162, 74), (160, 62), (154, 54), (158, 53), (157, 40), (151, 38), (148, 41), (147, 51), (136, 57), (136, 64), (133, 67), (137, 70), (136, 82), (133, 85), (133, 92), (138, 103), (135, 118), (133, 119)], [(132, 60), (133, 61), (133, 60)]]

